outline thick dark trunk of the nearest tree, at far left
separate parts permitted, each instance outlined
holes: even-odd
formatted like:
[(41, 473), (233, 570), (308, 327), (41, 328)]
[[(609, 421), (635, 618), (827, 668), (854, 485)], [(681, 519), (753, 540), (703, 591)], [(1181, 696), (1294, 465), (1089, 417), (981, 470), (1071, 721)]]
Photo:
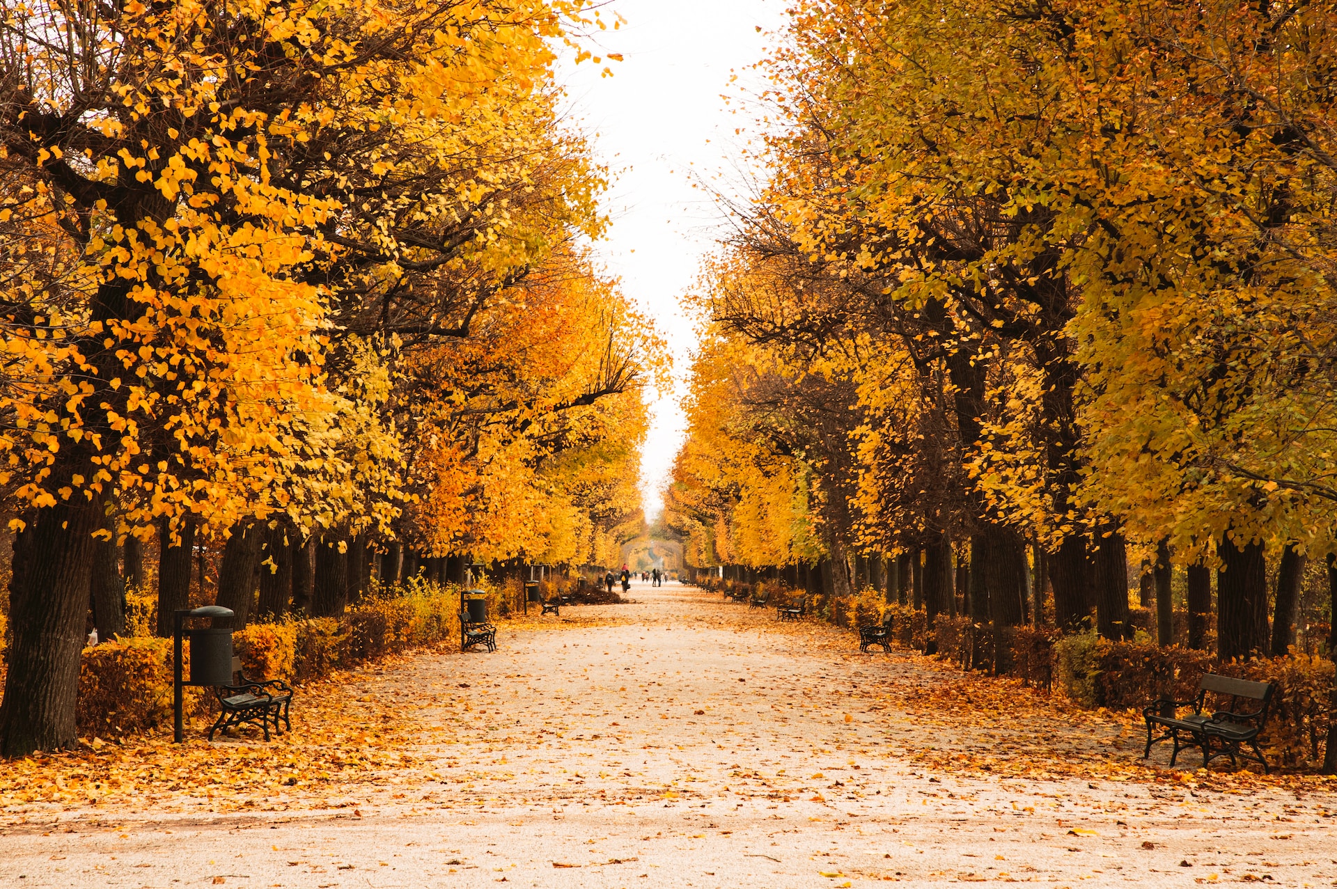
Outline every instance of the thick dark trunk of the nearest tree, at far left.
[(60, 750), (76, 741), (92, 533), (103, 520), (100, 508), (82, 500), (28, 509), (24, 529), (13, 537), (0, 757)]

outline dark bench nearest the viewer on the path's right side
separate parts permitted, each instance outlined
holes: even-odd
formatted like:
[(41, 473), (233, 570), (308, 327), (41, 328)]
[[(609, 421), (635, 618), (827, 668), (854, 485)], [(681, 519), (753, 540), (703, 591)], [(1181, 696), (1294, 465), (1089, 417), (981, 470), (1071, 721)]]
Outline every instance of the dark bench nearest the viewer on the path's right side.
[[(1266, 774), (1267, 759), (1258, 747), (1258, 733), (1267, 722), (1267, 709), (1274, 688), (1270, 682), (1206, 674), (1198, 683), (1198, 694), (1191, 701), (1162, 698), (1143, 709), (1142, 717), (1147, 721), (1147, 749), (1142, 758), (1151, 755), (1152, 743), (1171, 741), (1174, 743), (1174, 753), (1170, 754), (1171, 766), (1181, 750), (1197, 747), (1202, 750), (1203, 767), (1217, 757), (1230, 757), (1231, 765), (1237, 767), (1241, 758), (1257, 762)], [(1214, 710), (1209, 715), (1205, 711), (1207, 695), (1230, 698), (1230, 703), (1225, 710)], [(1191, 710), (1181, 714), (1181, 707)], [(1250, 709), (1242, 710), (1242, 707)], [(1159, 737), (1155, 737), (1157, 731), (1161, 731)], [(1243, 750), (1243, 745), (1249, 745), (1251, 753)]]

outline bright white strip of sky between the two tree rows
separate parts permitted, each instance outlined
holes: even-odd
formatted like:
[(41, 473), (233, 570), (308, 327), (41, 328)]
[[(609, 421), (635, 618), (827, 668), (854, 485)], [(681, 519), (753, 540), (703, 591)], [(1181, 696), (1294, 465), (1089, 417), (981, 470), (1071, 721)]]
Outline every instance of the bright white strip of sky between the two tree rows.
[[(734, 72), (745, 84), (758, 83), (746, 70), (763, 57), (783, 9), (782, 0), (612, 0), (603, 15), (620, 13), (626, 24), (600, 32), (599, 43), (623, 55), (607, 63), (614, 76), (600, 78), (604, 66), (588, 61), (559, 75), (575, 116), (598, 134), (600, 160), (618, 174), (604, 197), (612, 226), (596, 251), (654, 317), (674, 357), (678, 390), (651, 402), (642, 460), (650, 521), (686, 426), (679, 400), (695, 336), (679, 298), (723, 223), (713, 199), (693, 188), (693, 176), (725, 193), (741, 183), (737, 166), (751, 115), (733, 114), (737, 103), (726, 106), (722, 96), (738, 96)], [(738, 127), (742, 136), (734, 135)]]

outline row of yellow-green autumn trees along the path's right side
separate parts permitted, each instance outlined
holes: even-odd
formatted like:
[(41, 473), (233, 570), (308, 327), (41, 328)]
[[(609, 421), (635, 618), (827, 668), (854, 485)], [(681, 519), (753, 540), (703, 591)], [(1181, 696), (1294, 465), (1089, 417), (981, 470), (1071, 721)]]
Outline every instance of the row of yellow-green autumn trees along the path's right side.
[(790, 15), (769, 180), (697, 295), (694, 561), (828, 560), (846, 595), (854, 557), (923, 552), (935, 614), (955, 548), (975, 619), (1020, 622), (1039, 568), (1060, 627), (1124, 638), (1140, 557), (1194, 614), (1217, 571), (1222, 658), (1285, 651), (1305, 560), (1337, 584), (1337, 13)]

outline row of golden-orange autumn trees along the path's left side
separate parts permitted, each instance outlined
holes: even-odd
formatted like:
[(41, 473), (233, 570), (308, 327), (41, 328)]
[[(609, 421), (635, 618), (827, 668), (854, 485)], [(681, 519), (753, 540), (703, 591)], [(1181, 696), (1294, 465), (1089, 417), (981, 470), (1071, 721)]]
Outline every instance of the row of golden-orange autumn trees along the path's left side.
[(0, 755), (75, 742), (118, 545), (156, 541), (160, 631), (206, 544), (243, 615), (261, 563), (266, 611), (310, 565), (337, 614), (376, 553), (608, 557), (660, 350), (582, 246), (586, 5), (11, 4)]

